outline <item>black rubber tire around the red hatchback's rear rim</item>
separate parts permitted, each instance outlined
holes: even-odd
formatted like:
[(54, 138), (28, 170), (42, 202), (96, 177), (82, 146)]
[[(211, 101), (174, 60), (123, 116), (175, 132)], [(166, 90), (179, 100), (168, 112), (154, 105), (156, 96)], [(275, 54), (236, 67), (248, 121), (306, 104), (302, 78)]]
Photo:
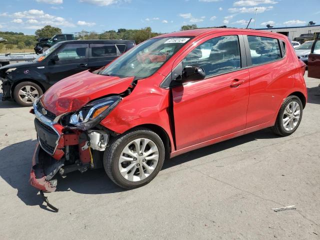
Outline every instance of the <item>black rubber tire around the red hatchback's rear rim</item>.
[[(286, 130), (282, 124), (282, 116), (283, 116), (283, 113), (284, 113), (284, 110), (285, 110), (285, 107), (290, 104), (290, 102), (292, 101), (295, 101), (299, 104), (299, 107), (300, 107), (300, 117), (299, 117), (299, 120), (297, 122), (297, 124), (295, 125), (295, 127), (292, 129), (292, 130)], [(276, 117), (276, 120), (275, 120), (275, 124), (274, 126), (272, 126), (272, 131), (277, 134), (277, 135), (280, 135), (280, 136), (287, 136), (287, 135), (290, 135), (292, 134), (299, 126), (300, 122), (301, 122), (301, 119), (302, 119), (302, 112), (303, 112), (303, 106), (302, 106), (302, 102), (300, 100), (299, 97), (295, 96), (295, 95), (291, 95), (291, 96), (288, 96), (284, 99), (281, 107), (280, 107), (280, 110), (278, 112), (278, 115)]]

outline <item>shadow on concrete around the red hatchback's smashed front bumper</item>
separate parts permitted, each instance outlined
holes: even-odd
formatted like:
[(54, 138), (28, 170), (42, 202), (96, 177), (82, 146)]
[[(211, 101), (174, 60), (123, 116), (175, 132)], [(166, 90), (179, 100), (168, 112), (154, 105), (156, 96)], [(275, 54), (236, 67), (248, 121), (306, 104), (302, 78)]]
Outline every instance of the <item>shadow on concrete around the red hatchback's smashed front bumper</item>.
[[(26, 140), (0, 149), (0, 177), (17, 190), (17, 197), (26, 205), (39, 205), (50, 211), (43, 203), (38, 190), (29, 184), (31, 159), (35, 145), (36, 140)], [(105, 174), (104, 169), (88, 170), (84, 173), (75, 171), (68, 173), (65, 178), (58, 175), (57, 180), (56, 191), (72, 190), (83, 194), (104, 194), (125, 190), (113, 183)], [(2, 188), (4, 195), (11, 194), (12, 189)]]

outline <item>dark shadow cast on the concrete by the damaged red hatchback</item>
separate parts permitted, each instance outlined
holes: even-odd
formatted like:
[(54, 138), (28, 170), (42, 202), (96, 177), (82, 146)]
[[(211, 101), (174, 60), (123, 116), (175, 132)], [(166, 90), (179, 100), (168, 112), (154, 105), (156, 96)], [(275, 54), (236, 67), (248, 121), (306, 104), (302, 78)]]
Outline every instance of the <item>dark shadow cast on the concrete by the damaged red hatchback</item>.
[[(165, 161), (162, 169), (191, 161), (249, 141), (274, 137), (277, 136), (274, 135), (270, 129), (263, 129), (176, 156)], [(2, 148), (0, 150), (0, 177), (12, 188), (17, 190), (17, 197), (26, 205), (39, 205), (41, 208), (51, 211), (46, 207), (45, 203), (43, 203), (38, 190), (32, 187), (28, 182), (31, 159), (35, 145), (36, 140), (26, 140)], [(83, 194), (105, 194), (125, 190), (113, 183), (108, 178), (103, 168), (88, 170), (83, 173), (80, 173), (79, 171), (71, 172), (68, 173), (65, 178), (57, 175), (57, 180), (58, 184), (56, 191), (71, 190)], [(10, 194), (10, 192), (11, 189), (5, 188), (3, 193)]]

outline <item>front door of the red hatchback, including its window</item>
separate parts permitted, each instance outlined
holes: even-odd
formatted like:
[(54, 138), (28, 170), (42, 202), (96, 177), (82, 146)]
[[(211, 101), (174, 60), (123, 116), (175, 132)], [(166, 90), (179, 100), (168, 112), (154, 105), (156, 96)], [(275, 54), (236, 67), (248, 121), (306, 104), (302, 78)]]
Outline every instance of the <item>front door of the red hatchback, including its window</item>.
[(237, 35), (211, 38), (184, 57), (183, 66), (200, 66), (206, 77), (172, 88), (177, 149), (245, 128), (249, 74), (240, 59)]

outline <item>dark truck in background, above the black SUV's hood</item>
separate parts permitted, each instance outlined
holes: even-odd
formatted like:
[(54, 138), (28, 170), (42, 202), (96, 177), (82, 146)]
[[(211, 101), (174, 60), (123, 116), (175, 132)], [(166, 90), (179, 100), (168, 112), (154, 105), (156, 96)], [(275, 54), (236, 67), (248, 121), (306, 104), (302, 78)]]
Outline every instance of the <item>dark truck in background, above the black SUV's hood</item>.
[(73, 34), (56, 34), (50, 37), (40, 37), (36, 39), (38, 42), (34, 47), (36, 54), (41, 54), (59, 41), (75, 40)]

